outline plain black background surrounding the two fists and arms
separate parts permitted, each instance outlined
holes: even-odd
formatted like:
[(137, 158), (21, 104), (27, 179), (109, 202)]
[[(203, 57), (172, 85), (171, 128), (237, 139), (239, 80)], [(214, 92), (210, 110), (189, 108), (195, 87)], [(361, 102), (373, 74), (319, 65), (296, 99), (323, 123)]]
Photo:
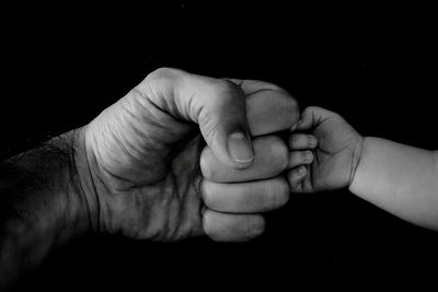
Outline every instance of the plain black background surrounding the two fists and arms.
[[(428, 7), (158, 1), (5, 9), (1, 159), (89, 122), (149, 72), (266, 80), (364, 136), (438, 149)], [(404, 283), (434, 270), (438, 235), (347, 190), (293, 196), (246, 244), (78, 238), (23, 288), (208, 289)], [(390, 276), (392, 275), (392, 276)], [(395, 276), (395, 277), (394, 277)], [(129, 289), (128, 289), (129, 290)]]

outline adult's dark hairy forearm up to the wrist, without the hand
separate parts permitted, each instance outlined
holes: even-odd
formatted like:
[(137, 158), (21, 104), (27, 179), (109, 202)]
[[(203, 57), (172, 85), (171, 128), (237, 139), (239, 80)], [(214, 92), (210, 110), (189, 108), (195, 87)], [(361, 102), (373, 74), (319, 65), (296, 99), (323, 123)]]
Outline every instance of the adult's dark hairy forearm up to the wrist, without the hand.
[(79, 131), (0, 166), (0, 287), (37, 266), (49, 250), (90, 226)]

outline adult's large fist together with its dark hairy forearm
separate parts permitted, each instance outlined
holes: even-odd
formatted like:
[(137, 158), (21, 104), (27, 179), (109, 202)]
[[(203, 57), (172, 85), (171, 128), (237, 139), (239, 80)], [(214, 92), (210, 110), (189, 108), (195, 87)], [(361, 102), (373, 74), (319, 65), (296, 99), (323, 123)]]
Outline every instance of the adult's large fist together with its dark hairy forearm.
[[(90, 231), (161, 242), (262, 234), (261, 213), (288, 200), (279, 172), (302, 156), (274, 133), (298, 119), (297, 102), (266, 82), (150, 73), (85, 127), (4, 162), (3, 207), (16, 213), (2, 222), (0, 287)], [(205, 148), (204, 170), (235, 172), (232, 183), (203, 177)]]

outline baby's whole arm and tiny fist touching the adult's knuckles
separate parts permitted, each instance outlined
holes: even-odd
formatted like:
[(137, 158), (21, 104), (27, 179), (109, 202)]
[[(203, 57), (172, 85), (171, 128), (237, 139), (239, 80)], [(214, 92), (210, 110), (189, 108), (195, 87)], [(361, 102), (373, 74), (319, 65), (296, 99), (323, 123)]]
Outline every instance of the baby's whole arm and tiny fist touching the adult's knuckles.
[(318, 147), (312, 164), (288, 172), (292, 191), (348, 187), (407, 222), (438, 230), (437, 151), (361, 137), (338, 114), (314, 106), (302, 113), (296, 129), (313, 136), (292, 132), (290, 149), (310, 148), (314, 138)]

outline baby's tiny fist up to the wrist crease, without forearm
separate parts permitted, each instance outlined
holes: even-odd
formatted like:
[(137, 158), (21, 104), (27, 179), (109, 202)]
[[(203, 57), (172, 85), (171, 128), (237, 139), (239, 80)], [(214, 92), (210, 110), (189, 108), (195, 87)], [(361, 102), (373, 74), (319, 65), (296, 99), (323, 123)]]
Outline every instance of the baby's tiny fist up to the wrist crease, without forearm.
[(293, 192), (314, 192), (347, 187), (351, 184), (361, 155), (364, 138), (336, 113), (308, 107), (296, 128), (308, 133), (292, 133), (291, 150), (313, 150), (313, 162), (289, 171)]

